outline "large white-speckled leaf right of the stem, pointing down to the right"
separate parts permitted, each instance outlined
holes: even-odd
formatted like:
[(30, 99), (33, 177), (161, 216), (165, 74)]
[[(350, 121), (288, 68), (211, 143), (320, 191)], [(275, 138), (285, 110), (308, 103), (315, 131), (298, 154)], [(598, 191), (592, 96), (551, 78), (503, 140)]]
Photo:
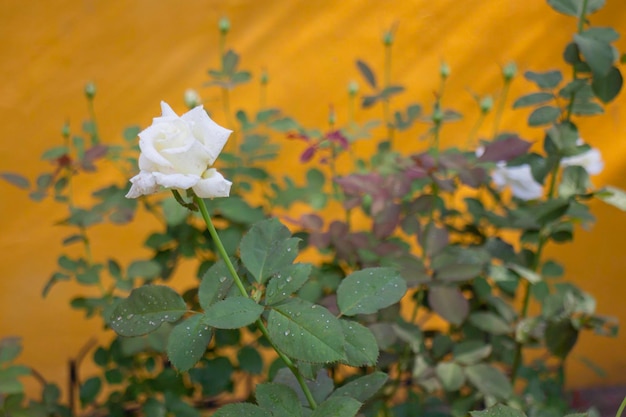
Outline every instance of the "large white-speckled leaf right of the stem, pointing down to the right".
[(316, 363), (347, 359), (341, 324), (322, 306), (287, 300), (272, 307), (267, 329), (276, 346), (294, 359)]

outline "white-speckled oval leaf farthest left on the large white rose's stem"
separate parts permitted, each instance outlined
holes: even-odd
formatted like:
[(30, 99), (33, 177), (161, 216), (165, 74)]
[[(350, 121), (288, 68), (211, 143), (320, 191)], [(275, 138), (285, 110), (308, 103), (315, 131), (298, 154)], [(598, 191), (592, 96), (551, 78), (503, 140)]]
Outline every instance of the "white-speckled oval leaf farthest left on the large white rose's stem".
[(173, 289), (145, 285), (134, 289), (115, 307), (109, 324), (120, 336), (141, 336), (163, 322), (174, 323), (186, 312), (185, 301)]

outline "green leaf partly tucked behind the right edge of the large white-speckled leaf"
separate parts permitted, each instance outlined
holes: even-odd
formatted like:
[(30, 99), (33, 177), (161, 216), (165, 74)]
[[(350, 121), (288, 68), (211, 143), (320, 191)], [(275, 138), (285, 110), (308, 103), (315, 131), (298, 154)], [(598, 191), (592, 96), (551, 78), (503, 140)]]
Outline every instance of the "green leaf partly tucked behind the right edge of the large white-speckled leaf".
[(346, 339), (346, 364), (350, 366), (373, 366), (378, 360), (378, 343), (372, 332), (356, 321), (340, 319)]

